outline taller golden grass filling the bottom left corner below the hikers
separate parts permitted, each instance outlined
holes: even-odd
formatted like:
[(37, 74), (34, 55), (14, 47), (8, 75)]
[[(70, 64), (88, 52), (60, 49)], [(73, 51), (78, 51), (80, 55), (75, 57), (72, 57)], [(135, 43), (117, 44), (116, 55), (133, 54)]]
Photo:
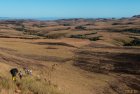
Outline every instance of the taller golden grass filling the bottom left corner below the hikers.
[(3, 72), (0, 74), (0, 94), (3, 94), (2, 92), (6, 92), (6, 94), (15, 94), (15, 92), (20, 94), (62, 94), (57, 90), (56, 85), (49, 84), (43, 78), (38, 80), (35, 76), (25, 76), (20, 80), (17, 77), (17, 81), (14, 82), (8, 70), (1, 70)]

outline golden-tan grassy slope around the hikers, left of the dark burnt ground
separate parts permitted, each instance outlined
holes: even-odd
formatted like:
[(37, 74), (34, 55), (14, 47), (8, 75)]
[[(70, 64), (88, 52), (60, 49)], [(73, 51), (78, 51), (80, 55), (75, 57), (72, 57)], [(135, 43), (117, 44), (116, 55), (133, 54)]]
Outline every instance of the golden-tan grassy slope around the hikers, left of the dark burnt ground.
[[(74, 41), (73, 41), (74, 40)], [(68, 42), (69, 41), (69, 42)], [(106, 81), (115, 80), (114, 77), (102, 75), (98, 73), (88, 73), (86, 71), (80, 70), (72, 65), (72, 60), (63, 62), (65, 58), (73, 58), (73, 51), (77, 48), (67, 47), (67, 46), (55, 46), (55, 45), (38, 45), (32, 44), (36, 42), (68, 42), (71, 45), (80, 47), (87, 45), (89, 41), (76, 40), (76, 39), (60, 39), (60, 40), (24, 40), (24, 39), (1, 39), (1, 76), (5, 77), (4, 86), (1, 86), (1, 92), (22, 92), (27, 94), (29, 92), (35, 93), (41, 92), (45, 93), (51, 92), (51, 94), (56, 94), (57, 90), (66, 94), (90, 94), (90, 93), (102, 93), (105, 86), (109, 85)], [(89, 42), (90, 43), (90, 42)], [(47, 46), (55, 47), (57, 49), (45, 49)], [(57, 52), (58, 50), (58, 52)], [(55, 56), (63, 57), (60, 63), (56, 61), (42, 59), (34, 59), (32, 57), (26, 57), (26, 55), (45, 55), (45, 56)], [(55, 59), (53, 59), (55, 60)], [(51, 71), (51, 66), (57, 64), (56, 69)], [(9, 70), (12, 67), (22, 68), (23, 66), (28, 66), (33, 69), (33, 77), (25, 77), (22, 81), (18, 81), (19, 87), (11, 81)], [(4, 75), (4, 76), (3, 76)], [(38, 76), (40, 77), (38, 80)], [(51, 81), (51, 85), (48, 85), (48, 81)], [(11, 84), (9, 84), (11, 83)], [(38, 85), (36, 85), (38, 84)], [(28, 89), (30, 87), (31, 89)], [(54, 89), (53, 89), (54, 88)], [(97, 90), (96, 90), (97, 89)], [(81, 91), (82, 90), (82, 91)], [(53, 93), (54, 92), (54, 93)], [(114, 92), (111, 91), (110, 92)]]

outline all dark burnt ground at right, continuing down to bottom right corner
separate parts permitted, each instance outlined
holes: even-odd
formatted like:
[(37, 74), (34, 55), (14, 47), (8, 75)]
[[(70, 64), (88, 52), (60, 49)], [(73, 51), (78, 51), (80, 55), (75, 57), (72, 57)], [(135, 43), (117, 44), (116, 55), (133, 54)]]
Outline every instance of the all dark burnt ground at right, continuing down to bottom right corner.
[[(119, 47), (110, 47), (110, 49), (112, 48), (114, 50), (119, 49)], [(94, 47), (91, 49), (94, 49)], [(118, 94), (133, 91), (136, 92), (135, 94), (140, 93), (140, 53), (135, 53), (135, 50), (139, 51), (138, 48), (128, 48), (133, 53), (132, 51), (130, 51), (131, 53), (125, 53), (122, 50), (122, 52), (113, 52), (114, 50), (107, 52), (91, 49), (79, 49), (76, 51), (73, 65), (93, 73), (115, 75), (114, 77), (119, 82), (113, 81), (108, 85)], [(104, 92), (105, 94), (112, 94), (106, 89)]]

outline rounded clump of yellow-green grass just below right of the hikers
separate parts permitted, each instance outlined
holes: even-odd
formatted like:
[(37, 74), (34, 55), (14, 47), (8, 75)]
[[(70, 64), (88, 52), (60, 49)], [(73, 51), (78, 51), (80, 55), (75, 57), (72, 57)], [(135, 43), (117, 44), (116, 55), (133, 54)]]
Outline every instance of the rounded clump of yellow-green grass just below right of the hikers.
[(17, 82), (22, 94), (60, 94), (53, 85), (43, 80), (26, 77), (22, 81)]

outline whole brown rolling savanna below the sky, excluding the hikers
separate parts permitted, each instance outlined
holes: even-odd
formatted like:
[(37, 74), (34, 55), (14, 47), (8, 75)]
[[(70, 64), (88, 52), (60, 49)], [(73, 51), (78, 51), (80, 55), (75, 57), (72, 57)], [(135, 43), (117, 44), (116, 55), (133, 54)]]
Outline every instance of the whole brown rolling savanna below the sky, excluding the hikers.
[(140, 15), (0, 20), (0, 94), (140, 94)]

